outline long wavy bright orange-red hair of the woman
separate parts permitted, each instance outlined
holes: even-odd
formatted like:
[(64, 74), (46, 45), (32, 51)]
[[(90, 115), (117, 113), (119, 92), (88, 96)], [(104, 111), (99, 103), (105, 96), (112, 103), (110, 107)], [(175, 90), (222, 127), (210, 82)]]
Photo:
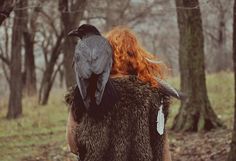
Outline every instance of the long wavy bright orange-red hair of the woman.
[(107, 39), (114, 52), (112, 75), (136, 75), (139, 80), (158, 86), (156, 77), (163, 79), (167, 68), (142, 47), (129, 28), (116, 27), (107, 34)]

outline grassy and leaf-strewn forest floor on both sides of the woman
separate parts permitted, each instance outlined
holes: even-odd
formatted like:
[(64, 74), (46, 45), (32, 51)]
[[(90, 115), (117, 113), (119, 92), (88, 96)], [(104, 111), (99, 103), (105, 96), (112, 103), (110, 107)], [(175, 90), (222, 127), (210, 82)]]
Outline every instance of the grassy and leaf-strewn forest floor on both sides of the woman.
[[(178, 78), (170, 79), (178, 88)], [(213, 109), (225, 129), (199, 133), (175, 133), (169, 130), (173, 161), (223, 161), (227, 158), (233, 123), (233, 74), (207, 76), (207, 88)], [(65, 127), (68, 109), (64, 90), (54, 90), (47, 106), (37, 105), (36, 98), (25, 98), (24, 115), (17, 120), (5, 119), (7, 98), (0, 100), (1, 161), (76, 161), (67, 150)], [(178, 112), (173, 100), (167, 127)]]

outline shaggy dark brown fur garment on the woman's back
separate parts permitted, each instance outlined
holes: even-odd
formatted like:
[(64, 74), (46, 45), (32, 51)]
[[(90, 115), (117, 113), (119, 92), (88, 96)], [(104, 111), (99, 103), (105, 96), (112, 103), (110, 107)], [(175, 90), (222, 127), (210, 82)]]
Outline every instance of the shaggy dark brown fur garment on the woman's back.
[(82, 161), (162, 161), (164, 135), (156, 131), (161, 99), (165, 118), (169, 97), (136, 77), (111, 80), (120, 101), (109, 109), (87, 113), (76, 103), (74, 88), (66, 96), (76, 116), (76, 142)]

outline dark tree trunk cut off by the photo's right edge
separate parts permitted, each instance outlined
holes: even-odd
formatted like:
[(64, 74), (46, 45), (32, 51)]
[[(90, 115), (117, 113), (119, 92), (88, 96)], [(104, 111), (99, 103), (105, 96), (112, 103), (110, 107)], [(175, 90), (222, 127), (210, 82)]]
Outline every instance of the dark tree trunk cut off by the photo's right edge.
[(233, 23), (233, 61), (234, 61), (234, 128), (232, 134), (231, 150), (228, 161), (236, 160), (236, 0), (234, 1), (234, 23)]

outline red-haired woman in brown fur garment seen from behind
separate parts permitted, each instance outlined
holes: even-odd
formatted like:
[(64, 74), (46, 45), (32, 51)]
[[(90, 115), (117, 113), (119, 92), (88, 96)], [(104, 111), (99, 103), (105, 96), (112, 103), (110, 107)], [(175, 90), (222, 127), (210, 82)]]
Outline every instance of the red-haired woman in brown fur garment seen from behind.
[[(121, 102), (125, 102), (126, 100), (134, 100), (133, 102), (137, 103), (140, 101), (140, 99), (136, 99), (136, 97), (140, 95), (140, 98), (148, 103), (142, 106), (141, 100), (140, 103), (137, 103), (138, 107), (135, 103), (134, 105), (132, 105), (131, 103), (130, 108), (127, 108), (127, 106), (129, 105), (119, 103), (117, 106), (120, 107), (115, 107), (114, 109), (112, 109), (112, 112), (108, 112), (109, 114), (107, 115), (109, 117), (107, 116), (107, 118), (105, 119), (98, 119), (98, 122), (100, 121), (103, 123), (98, 123), (96, 124), (96, 126), (91, 128), (90, 131), (96, 133), (96, 135), (93, 135), (93, 133), (86, 133), (86, 130), (93, 126), (93, 121), (89, 120), (89, 116), (81, 116), (80, 118), (78, 118), (78, 115), (82, 115), (82, 113), (84, 113), (84, 110), (80, 109), (78, 105), (74, 105), (73, 107), (73, 103), (75, 102), (75, 100), (74, 102), (73, 100), (67, 100), (67, 102), (72, 105), (72, 108), (69, 111), (67, 123), (67, 141), (70, 151), (76, 155), (79, 154), (82, 160), (86, 159), (88, 161), (94, 161), (96, 159), (99, 160), (98, 158), (101, 155), (108, 156), (109, 159), (107, 160), (124, 161), (132, 156), (132, 158), (136, 157), (140, 160), (142, 160), (142, 158), (143, 160), (152, 160), (153, 158), (157, 157), (156, 160), (159, 159), (162, 161), (171, 161), (167, 134), (161, 136), (155, 131), (156, 123), (154, 122), (154, 120), (156, 119), (158, 108), (162, 103), (160, 103), (160, 99), (156, 101), (159, 101), (158, 107), (156, 105), (153, 105), (152, 103), (153, 99), (156, 99), (156, 97), (163, 97), (164, 113), (167, 117), (169, 97), (166, 97), (165, 95), (159, 93), (157, 95), (152, 94), (155, 93), (152, 92), (152, 89), (158, 89), (159, 87), (156, 78), (163, 79), (166, 67), (162, 63), (158, 62), (156, 56), (145, 51), (137, 41), (135, 35), (127, 28), (117, 27), (113, 29), (108, 33), (107, 39), (109, 40), (114, 52), (114, 63), (111, 72), (111, 80), (113, 80), (114, 86), (118, 87), (117, 90), (121, 95), (121, 100), (123, 99), (123, 101)], [(130, 75), (136, 76), (135, 78), (137, 78), (137, 80), (133, 78), (127, 78)], [(145, 84), (149, 84), (150, 87), (143, 85), (142, 82)], [(138, 90), (141, 86), (143, 90), (150, 94), (149, 96), (143, 96), (142, 91)], [(76, 95), (75, 91), (76, 90), (73, 91), (74, 93), (72, 95)], [(132, 91), (131, 93), (135, 94), (136, 96), (134, 97), (132, 94), (125, 94), (126, 91)], [(134, 109), (131, 110), (131, 108)], [(80, 109), (80, 111), (78, 111), (77, 109)], [(141, 112), (140, 109), (142, 110)], [(84, 121), (86, 119), (88, 119), (89, 121)], [(89, 124), (88, 122), (90, 122), (91, 124)], [(123, 122), (124, 124), (122, 124)], [(116, 127), (119, 126), (119, 124), (122, 124), (122, 126), (119, 128)], [(137, 125), (137, 128), (133, 127), (135, 125)], [(89, 128), (84, 128), (85, 126)], [(113, 132), (111, 129), (118, 130), (113, 130), (116, 131)], [(101, 140), (103, 138), (106, 139), (99, 142), (100, 140), (96, 139), (97, 135), (100, 136)], [(160, 145), (160, 147), (162, 147), (161, 153), (156, 150), (156, 145), (149, 145), (155, 143), (155, 141), (157, 144), (159, 144), (160, 141), (158, 139), (163, 140), (164, 144), (163, 146)], [(93, 140), (93, 142), (88, 144), (86, 143), (86, 141), (88, 140)], [(120, 140), (122, 143), (119, 142)], [(137, 140), (140, 141), (140, 145), (139, 141)], [(124, 148), (124, 146), (126, 147)], [(133, 148), (131, 147), (135, 147), (135, 150), (132, 150)], [(90, 156), (88, 155), (89, 150), (91, 151)], [(122, 150), (125, 152), (123, 153)], [(122, 154), (122, 156), (124, 156), (127, 153), (130, 154), (126, 156), (126, 159), (124, 157), (121, 157), (121, 155), (118, 155)], [(140, 155), (141, 153), (142, 155)], [(91, 155), (94, 156), (91, 157)], [(156, 155), (162, 156), (158, 157)], [(106, 160), (104, 159), (104, 157), (100, 159)]]

